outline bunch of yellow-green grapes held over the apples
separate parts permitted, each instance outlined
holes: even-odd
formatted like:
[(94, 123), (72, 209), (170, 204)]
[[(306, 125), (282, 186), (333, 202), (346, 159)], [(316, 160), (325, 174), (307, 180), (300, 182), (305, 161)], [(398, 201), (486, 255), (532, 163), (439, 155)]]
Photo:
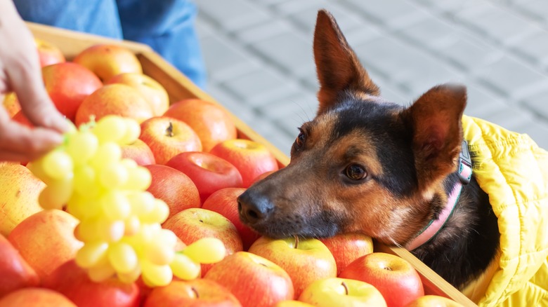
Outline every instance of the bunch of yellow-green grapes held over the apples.
[(39, 203), (44, 209), (66, 205), (79, 219), (74, 236), (84, 246), (76, 262), (91, 280), (134, 282), (142, 275), (154, 287), (169, 284), (173, 275), (197, 278), (200, 264), (223, 259), (225, 247), (202, 238), (177, 251), (176, 235), (161, 226), (168, 205), (146, 191), (150, 172), (122, 158), (120, 145), (135, 142), (140, 132), (136, 121), (120, 116), (72, 128), (63, 145), (28, 165), (46, 183)]

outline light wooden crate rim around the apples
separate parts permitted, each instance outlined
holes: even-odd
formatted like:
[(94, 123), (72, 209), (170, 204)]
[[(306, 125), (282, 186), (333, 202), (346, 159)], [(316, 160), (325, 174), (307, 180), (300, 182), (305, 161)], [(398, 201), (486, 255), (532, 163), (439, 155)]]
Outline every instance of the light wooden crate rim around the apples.
[[(162, 57), (155, 53), (150, 47), (141, 43), (107, 39), (102, 36), (72, 32), (66, 29), (58, 29), (31, 22), (28, 22), (27, 25), (35, 37), (58, 46), (65, 54), (65, 57), (67, 57), (67, 60), (71, 60), (81, 50), (84, 50), (84, 48), (93, 46), (97, 43), (113, 43), (124, 46), (137, 55), (143, 66), (143, 72), (166, 88), (171, 103), (187, 98), (198, 98), (220, 104), (222, 107), (222, 102), (219, 103), (213, 97), (204, 93), (204, 91), (195, 86), (192, 81), (181, 74), (175, 67), (163, 60)], [(289, 157), (285, 155), (285, 153), (249, 128), (249, 126), (241, 121), (240, 118), (237, 118), (237, 116), (230, 113), (230, 111), (228, 111), (228, 113), (232, 116), (236, 124), (238, 137), (252, 139), (255, 142), (259, 142), (268, 147), (278, 159), (280, 167), (289, 163)], [(443, 280), (443, 278), (433, 272), (428, 266), (423, 264), (422, 261), (419, 261), (417, 257), (413, 256), (407, 250), (399, 247), (389, 247), (380, 243), (375, 243), (374, 248), (376, 252), (395, 254), (396, 256), (409, 261), (421, 275), (424, 284), (424, 292), (426, 294), (446, 296), (464, 306), (476, 306), (476, 304), (470, 301), (464, 294), (455, 289), (455, 287), (452, 287), (452, 285)]]

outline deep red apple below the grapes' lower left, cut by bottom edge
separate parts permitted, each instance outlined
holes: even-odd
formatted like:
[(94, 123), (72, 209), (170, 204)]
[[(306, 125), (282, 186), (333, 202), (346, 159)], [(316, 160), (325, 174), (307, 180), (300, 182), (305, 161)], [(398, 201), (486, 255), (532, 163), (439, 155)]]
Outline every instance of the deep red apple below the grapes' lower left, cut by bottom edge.
[(93, 282), (74, 259), (65, 262), (48, 275), (44, 279), (44, 287), (65, 295), (79, 307), (137, 307), (141, 297), (134, 282), (126, 284), (117, 278)]

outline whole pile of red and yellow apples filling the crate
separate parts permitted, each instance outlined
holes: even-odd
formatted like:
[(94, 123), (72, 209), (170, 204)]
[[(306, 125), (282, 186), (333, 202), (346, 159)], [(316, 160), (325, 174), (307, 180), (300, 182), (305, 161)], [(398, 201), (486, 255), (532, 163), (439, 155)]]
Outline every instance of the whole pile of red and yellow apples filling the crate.
[[(202, 264), (198, 278), (163, 287), (116, 275), (93, 281), (75, 260), (83, 246), (75, 236), (79, 219), (44, 210), (46, 184), (25, 165), (0, 162), (0, 307), (460, 306), (425, 296), (409, 262), (374, 252), (371, 238), (359, 233), (274, 240), (243, 225), (237, 196), (278, 170), (278, 161), (266, 146), (238, 139), (217, 104), (170, 104), (131, 51), (97, 45), (67, 62), (50, 43), (37, 40), (37, 49), (46, 90), (74, 125), (110, 115), (140, 123), (138, 139), (120, 147), (122, 157), (150, 172), (147, 191), (169, 207), (162, 228), (177, 236), (176, 249), (217, 238), (226, 254)], [(3, 104), (30, 125), (15, 95)]]

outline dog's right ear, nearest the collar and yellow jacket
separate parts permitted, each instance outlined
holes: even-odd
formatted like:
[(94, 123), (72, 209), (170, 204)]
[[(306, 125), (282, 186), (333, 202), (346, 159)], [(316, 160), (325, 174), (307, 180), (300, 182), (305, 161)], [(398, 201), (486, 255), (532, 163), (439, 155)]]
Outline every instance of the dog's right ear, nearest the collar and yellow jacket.
[(425, 193), (456, 170), (466, 104), (464, 86), (445, 84), (431, 88), (403, 111), (412, 129), (419, 189)]

